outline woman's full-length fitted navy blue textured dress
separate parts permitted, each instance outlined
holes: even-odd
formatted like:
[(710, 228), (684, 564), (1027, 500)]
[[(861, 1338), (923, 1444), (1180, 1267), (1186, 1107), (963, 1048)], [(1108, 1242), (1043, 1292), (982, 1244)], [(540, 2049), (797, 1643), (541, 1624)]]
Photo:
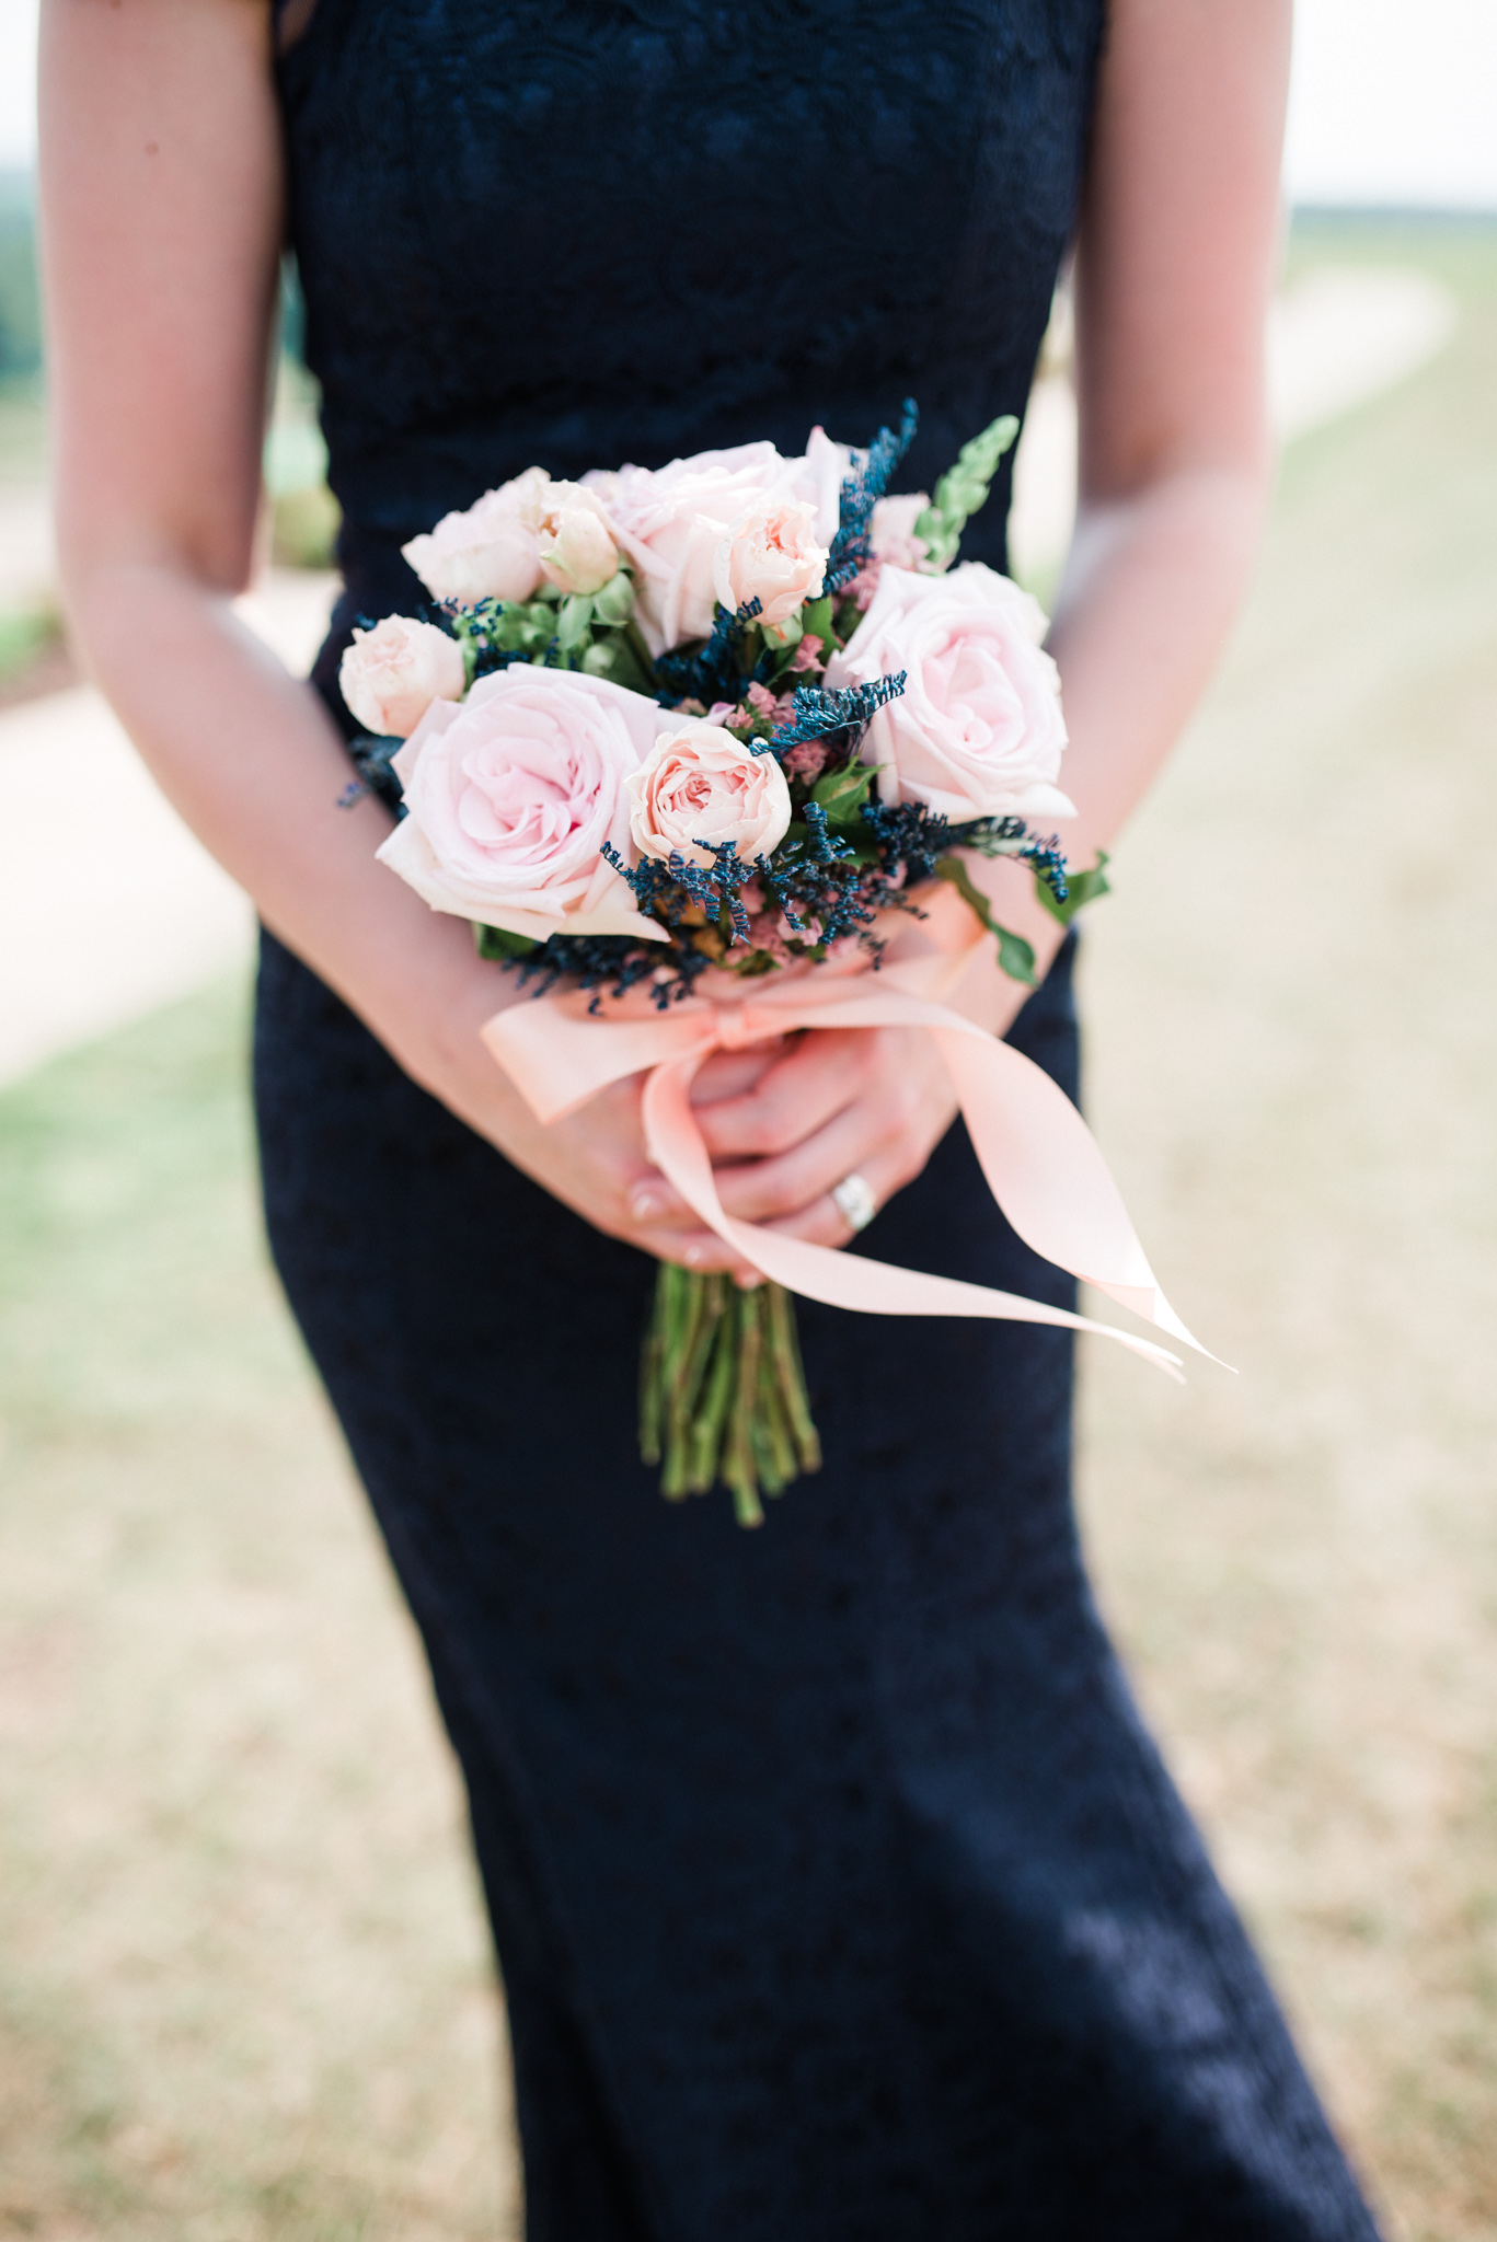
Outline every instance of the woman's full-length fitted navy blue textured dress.
[[(281, 58), (348, 594), (554, 473), (1021, 410), (1100, 0), (321, 0)], [(1005, 489), (967, 552), (1003, 560)], [(346, 720), (346, 717), (343, 717)], [(1071, 957), (1014, 1029), (1073, 1094)], [(265, 942), (265, 1204), (420, 1621), (532, 2242), (1351, 2242), (1371, 2220), (1098, 1621), (1071, 1343), (801, 1309), (759, 1534), (635, 1455), (653, 1264)], [(1071, 1298), (965, 1134), (866, 1249)]]

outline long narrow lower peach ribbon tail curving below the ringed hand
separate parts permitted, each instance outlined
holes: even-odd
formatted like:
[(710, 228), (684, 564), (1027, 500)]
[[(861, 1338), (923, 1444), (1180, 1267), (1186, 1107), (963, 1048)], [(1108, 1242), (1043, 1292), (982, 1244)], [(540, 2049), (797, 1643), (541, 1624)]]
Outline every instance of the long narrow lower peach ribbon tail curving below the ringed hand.
[[(691, 1112), (691, 1081), (702, 1063), (700, 1051), (655, 1067), (644, 1085), (644, 1137), (660, 1173), (680, 1191), (687, 1206), (725, 1244), (734, 1247), (761, 1276), (786, 1285), (806, 1300), (828, 1307), (851, 1307), (864, 1316), (981, 1316), (994, 1323), (1048, 1323), (1068, 1332), (1100, 1332), (1118, 1345), (1142, 1354), (1167, 1377), (1181, 1381), (1181, 1359), (1167, 1347), (1120, 1332), (1091, 1316), (1075, 1316), (1044, 1300), (1026, 1300), (1014, 1291), (967, 1285), (961, 1278), (927, 1276), (920, 1269), (896, 1269), (862, 1253), (835, 1253), (803, 1238), (736, 1222), (723, 1206), (711, 1179), (711, 1161)], [(1068, 1103), (1068, 1101), (1066, 1101)], [(1071, 1108), (1075, 1112), (1075, 1108)]]

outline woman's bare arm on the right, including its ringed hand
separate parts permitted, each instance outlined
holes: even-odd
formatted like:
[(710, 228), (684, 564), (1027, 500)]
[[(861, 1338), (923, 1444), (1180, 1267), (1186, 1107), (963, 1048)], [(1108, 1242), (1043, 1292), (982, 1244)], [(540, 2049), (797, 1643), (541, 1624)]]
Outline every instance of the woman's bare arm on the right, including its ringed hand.
[[(1077, 242), (1080, 513), (1050, 650), (1071, 747), (1075, 865), (1106, 847), (1216, 661), (1268, 489), (1264, 316), (1279, 240), (1291, 0), (1113, 0)], [(972, 863), (997, 917), (1048, 966), (1062, 942), (1014, 863)], [(963, 1007), (1003, 1031), (1023, 989), (992, 953)], [(723, 1204), (826, 1244), (826, 1195), (860, 1168), (882, 1202), (920, 1173), (954, 1101), (929, 1038), (808, 1036), (700, 1119)], [(824, 1123), (808, 1137), (808, 1125)]]

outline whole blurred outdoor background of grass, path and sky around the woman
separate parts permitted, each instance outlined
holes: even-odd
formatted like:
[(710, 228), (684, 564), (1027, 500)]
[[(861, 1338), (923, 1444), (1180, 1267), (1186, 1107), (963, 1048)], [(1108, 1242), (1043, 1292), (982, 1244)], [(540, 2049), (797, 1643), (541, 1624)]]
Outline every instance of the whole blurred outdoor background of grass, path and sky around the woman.
[[(0, 2233), (509, 2233), (458, 1789), (258, 1233), (249, 910), (61, 632), (34, 34), (4, 0)], [(1302, 0), (1273, 525), (1084, 946), (1093, 1125), (1241, 1368), (1084, 1352), (1100, 1592), (1398, 2242), (1497, 2233), (1495, 114), (1490, 0)], [(265, 469), (247, 612), (305, 666), (294, 287)], [(1073, 491), (1059, 305), (1041, 594)]]

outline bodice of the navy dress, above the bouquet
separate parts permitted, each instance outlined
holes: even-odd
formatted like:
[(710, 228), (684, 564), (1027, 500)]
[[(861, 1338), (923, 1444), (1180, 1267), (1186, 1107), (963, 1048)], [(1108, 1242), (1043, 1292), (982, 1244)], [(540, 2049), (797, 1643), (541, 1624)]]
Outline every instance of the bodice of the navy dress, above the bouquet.
[[(278, 65), (346, 565), (539, 462), (1021, 413), (1102, 0), (319, 0)], [(965, 540), (1001, 563), (1008, 482)]]

